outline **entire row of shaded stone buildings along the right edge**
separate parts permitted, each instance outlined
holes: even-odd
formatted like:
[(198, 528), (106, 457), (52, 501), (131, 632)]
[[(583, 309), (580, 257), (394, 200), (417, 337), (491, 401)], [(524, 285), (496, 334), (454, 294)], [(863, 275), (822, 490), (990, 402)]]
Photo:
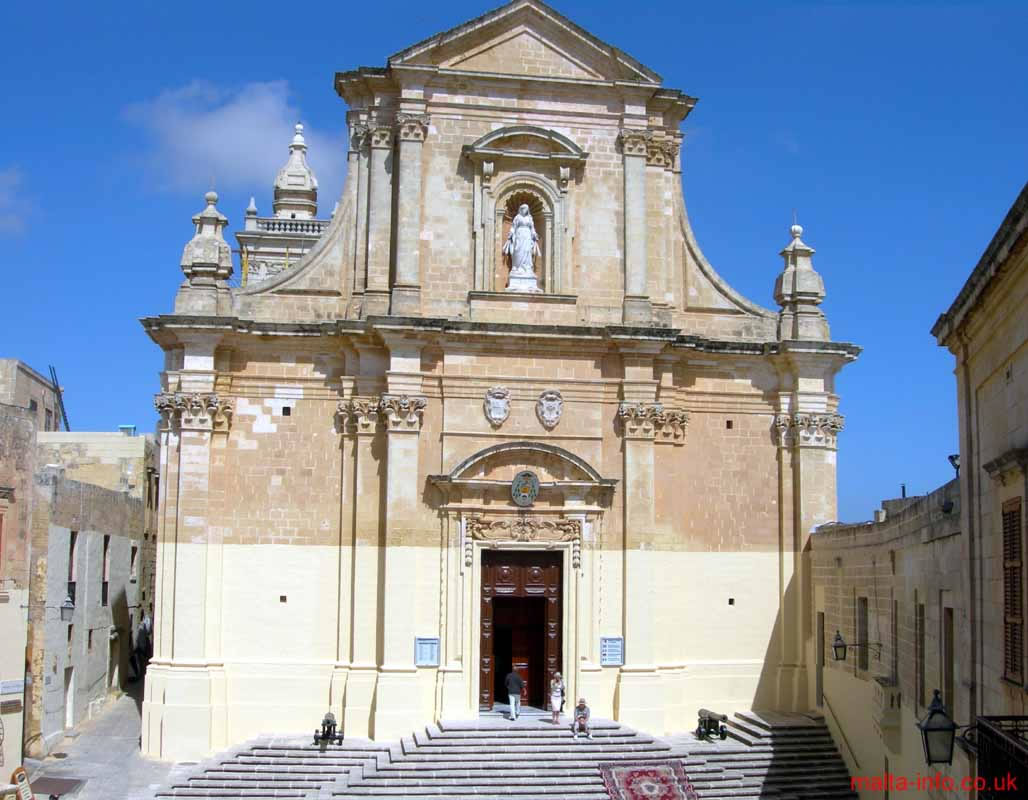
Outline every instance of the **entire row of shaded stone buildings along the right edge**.
[[(1007, 773), (1028, 781), (1026, 310), (1028, 186), (931, 331), (956, 357), (958, 478), (811, 537), (814, 704), (854, 775), (926, 771), (916, 724), (938, 690), (974, 727), (961, 727), (953, 764), (931, 770), (988, 789)], [(837, 631), (845, 661), (833, 659)]]

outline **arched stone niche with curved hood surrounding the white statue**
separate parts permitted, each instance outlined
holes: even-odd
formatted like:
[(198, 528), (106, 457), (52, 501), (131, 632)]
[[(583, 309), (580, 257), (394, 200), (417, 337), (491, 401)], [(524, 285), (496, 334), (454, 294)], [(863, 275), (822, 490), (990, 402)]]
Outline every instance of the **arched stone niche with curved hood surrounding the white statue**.
[(507, 287), (510, 267), (502, 251), (510, 229), (509, 205), (518, 192), (530, 198), (540, 238), (536, 275), (541, 288), (551, 294), (571, 289), (565, 264), (571, 250), (568, 187), (588, 153), (555, 131), (511, 125), (467, 145), (464, 154), (475, 165), (474, 290), (501, 292)]

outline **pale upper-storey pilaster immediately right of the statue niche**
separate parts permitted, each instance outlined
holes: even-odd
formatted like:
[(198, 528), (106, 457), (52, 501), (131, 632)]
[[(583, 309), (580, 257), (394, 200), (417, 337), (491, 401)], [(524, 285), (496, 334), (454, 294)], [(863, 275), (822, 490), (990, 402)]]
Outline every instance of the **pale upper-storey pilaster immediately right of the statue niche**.
[(646, 131), (621, 132), (625, 172), (625, 325), (649, 325), (653, 311), (647, 284), (646, 165), (650, 137)]

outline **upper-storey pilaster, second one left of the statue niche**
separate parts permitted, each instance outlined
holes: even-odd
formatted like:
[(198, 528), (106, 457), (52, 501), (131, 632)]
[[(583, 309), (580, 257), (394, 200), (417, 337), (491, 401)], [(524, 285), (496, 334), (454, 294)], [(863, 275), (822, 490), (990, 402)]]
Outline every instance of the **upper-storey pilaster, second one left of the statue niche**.
[(368, 278), (363, 316), (389, 314), (390, 246), (393, 238), (393, 129), (371, 128), (368, 176)]

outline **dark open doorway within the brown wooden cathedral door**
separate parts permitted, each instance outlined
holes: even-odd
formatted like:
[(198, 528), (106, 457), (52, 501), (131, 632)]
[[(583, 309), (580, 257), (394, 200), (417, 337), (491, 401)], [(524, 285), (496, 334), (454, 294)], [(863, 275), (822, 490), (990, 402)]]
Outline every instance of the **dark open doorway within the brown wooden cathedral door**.
[(546, 598), (494, 597), (492, 604), (493, 696), (498, 702), (507, 701), (505, 681), (516, 668), (525, 682), (521, 703), (541, 708), (546, 690)]

